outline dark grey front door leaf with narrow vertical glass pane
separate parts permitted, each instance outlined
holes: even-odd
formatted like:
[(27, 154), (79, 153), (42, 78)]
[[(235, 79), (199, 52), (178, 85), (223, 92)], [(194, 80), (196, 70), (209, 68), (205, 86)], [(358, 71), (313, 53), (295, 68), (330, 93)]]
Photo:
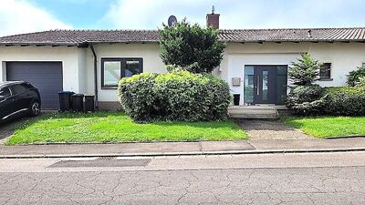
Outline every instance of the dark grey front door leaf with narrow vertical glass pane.
[(255, 66), (255, 104), (276, 104), (276, 66)]

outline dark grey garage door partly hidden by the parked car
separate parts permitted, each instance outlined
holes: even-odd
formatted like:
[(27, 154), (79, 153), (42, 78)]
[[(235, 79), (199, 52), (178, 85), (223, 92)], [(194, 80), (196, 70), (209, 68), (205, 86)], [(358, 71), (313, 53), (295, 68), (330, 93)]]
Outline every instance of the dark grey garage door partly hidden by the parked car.
[(58, 109), (62, 91), (61, 62), (7, 62), (6, 80), (24, 80), (39, 89), (42, 108)]

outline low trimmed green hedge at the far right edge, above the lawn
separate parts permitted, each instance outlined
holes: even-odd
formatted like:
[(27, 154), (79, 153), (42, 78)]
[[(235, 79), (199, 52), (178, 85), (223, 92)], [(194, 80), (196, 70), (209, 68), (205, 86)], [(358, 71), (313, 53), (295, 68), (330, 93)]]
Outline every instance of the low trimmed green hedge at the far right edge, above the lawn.
[(326, 106), (328, 115), (364, 116), (365, 91), (358, 87), (328, 87), (326, 88)]

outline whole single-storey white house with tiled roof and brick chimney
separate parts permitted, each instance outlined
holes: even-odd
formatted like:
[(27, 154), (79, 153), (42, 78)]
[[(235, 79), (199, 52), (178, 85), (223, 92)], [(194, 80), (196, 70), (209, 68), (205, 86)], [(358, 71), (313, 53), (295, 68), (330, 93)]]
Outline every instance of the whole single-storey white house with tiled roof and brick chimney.
[[(207, 15), (218, 28), (219, 15)], [(344, 86), (365, 63), (365, 28), (220, 30), (224, 60), (214, 74), (226, 80), (240, 105), (283, 103), (287, 66), (302, 52), (324, 62), (324, 87)], [(0, 80), (39, 88), (44, 108), (58, 108), (57, 92), (96, 94), (99, 108), (116, 108), (120, 77), (166, 72), (157, 30), (51, 30), (0, 37)]]

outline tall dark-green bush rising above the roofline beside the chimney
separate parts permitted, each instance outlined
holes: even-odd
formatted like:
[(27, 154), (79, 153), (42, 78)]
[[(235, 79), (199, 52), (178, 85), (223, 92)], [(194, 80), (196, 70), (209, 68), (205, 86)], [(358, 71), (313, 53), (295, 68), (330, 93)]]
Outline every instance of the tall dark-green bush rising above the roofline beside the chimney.
[(217, 29), (191, 26), (185, 19), (174, 26), (162, 26), (160, 45), (165, 65), (192, 73), (211, 73), (221, 64), (225, 45), (219, 41)]

